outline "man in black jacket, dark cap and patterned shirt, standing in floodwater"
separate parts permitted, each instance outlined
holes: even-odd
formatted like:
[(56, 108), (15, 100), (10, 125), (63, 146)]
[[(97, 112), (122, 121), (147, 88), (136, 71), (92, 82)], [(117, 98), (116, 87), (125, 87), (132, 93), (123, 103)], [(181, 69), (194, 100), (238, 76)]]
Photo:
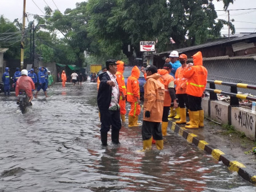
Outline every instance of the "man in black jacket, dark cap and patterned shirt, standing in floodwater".
[(119, 88), (117, 83), (117, 63), (114, 59), (106, 61), (107, 72), (99, 75), (99, 90), (97, 103), (101, 113), (101, 142), (107, 146), (107, 132), (111, 125), (111, 140), (113, 144), (119, 143), (119, 130), (121, 129)]

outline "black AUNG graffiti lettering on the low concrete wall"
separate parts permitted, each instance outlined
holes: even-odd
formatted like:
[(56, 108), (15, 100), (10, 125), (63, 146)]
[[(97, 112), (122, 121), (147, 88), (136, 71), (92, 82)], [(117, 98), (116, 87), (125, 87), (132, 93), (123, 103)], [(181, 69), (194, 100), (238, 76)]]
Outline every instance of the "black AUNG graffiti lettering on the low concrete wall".
[(235, 120), (238, 121), (240, 126), (253, 130), (254, 120), (250, 113), (239, 111), (239, 113), (235, 113)]

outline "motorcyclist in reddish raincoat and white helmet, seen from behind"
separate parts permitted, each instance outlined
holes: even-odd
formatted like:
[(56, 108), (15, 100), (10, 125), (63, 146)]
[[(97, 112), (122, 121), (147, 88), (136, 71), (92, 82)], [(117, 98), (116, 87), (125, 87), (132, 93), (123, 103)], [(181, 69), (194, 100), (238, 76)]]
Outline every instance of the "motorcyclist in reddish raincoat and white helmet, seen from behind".
[[(25, 90), (27, 96), (29, 97), (29, 102), (31, 104), (31, 100), (33, 99), (32, 89), (35, 89), (35, 84), (33, 80), (27, 76), (27, 70), (21, 71), (21, 77), (18, 78), (16, 82), (16, 88), (15, 88), (15, 95), (19, 95), (19, 90), (23, 89)], [(17, 101), (17, 104), (19, 104), (19, 100)]]

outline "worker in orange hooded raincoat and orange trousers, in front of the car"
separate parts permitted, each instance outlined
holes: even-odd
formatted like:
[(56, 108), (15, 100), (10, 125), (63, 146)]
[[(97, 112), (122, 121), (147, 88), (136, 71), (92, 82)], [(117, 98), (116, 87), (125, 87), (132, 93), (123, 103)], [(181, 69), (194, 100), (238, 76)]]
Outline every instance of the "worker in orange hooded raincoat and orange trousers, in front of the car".
[(129, 125), (138, 126), (138, 115), (141, 113), (141, 100), (139, 100), (139, 68), (134, 66), (131, 75), (127, 79), (127, 101), (131, 104), (129, 112)]

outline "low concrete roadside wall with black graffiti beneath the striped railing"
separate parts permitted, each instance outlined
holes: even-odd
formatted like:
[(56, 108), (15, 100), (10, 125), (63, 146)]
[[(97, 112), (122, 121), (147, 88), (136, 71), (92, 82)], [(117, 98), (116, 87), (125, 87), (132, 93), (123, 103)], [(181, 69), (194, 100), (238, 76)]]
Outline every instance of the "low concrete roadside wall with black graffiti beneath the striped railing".
[(230, 107), (223, 101), (202, 99), (205, 116), (220, 122), (233, 125), (235, 130), (245, 133), (246, 137), (256, 140), (256, 112), (242, 107)]

